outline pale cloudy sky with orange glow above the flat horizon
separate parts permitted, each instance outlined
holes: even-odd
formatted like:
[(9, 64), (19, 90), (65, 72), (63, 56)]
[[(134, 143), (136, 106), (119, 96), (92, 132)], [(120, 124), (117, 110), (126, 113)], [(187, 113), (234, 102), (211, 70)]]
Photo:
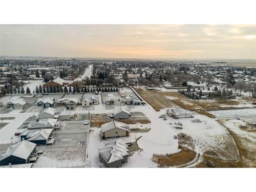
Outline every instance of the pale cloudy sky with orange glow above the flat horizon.
[(0, 25), (0, 55), (256, 59), (256, 25)]

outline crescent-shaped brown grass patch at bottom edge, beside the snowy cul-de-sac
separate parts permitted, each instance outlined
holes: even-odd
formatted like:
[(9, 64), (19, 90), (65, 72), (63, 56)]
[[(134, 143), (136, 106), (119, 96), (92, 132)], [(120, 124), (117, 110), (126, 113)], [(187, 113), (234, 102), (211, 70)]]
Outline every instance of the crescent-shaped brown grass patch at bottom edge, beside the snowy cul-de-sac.
[(190, 150), (187, 147), (181, 147), (181, 151), (174, 154), (167, 155), (153, 155), (153, 161), (159, 164), (160, 167), (165, 166), (179, 166), (190, 161), (193, 161), (196, 158), (197, 153), (193, 150)]

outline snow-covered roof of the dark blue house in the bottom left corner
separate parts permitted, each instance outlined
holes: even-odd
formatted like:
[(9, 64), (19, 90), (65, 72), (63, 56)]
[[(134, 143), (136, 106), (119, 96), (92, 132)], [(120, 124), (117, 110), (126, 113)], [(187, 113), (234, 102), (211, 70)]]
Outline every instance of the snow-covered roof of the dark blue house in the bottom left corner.
[(0, 160), (5, 159), (9, 156), (15, 156), (22, 159), (28, 159), (32, 151), (34, 150), (36, 144), (23, 140), (14, 145), (8, 147), (8, 150), (5, 155), (0, 156)]

